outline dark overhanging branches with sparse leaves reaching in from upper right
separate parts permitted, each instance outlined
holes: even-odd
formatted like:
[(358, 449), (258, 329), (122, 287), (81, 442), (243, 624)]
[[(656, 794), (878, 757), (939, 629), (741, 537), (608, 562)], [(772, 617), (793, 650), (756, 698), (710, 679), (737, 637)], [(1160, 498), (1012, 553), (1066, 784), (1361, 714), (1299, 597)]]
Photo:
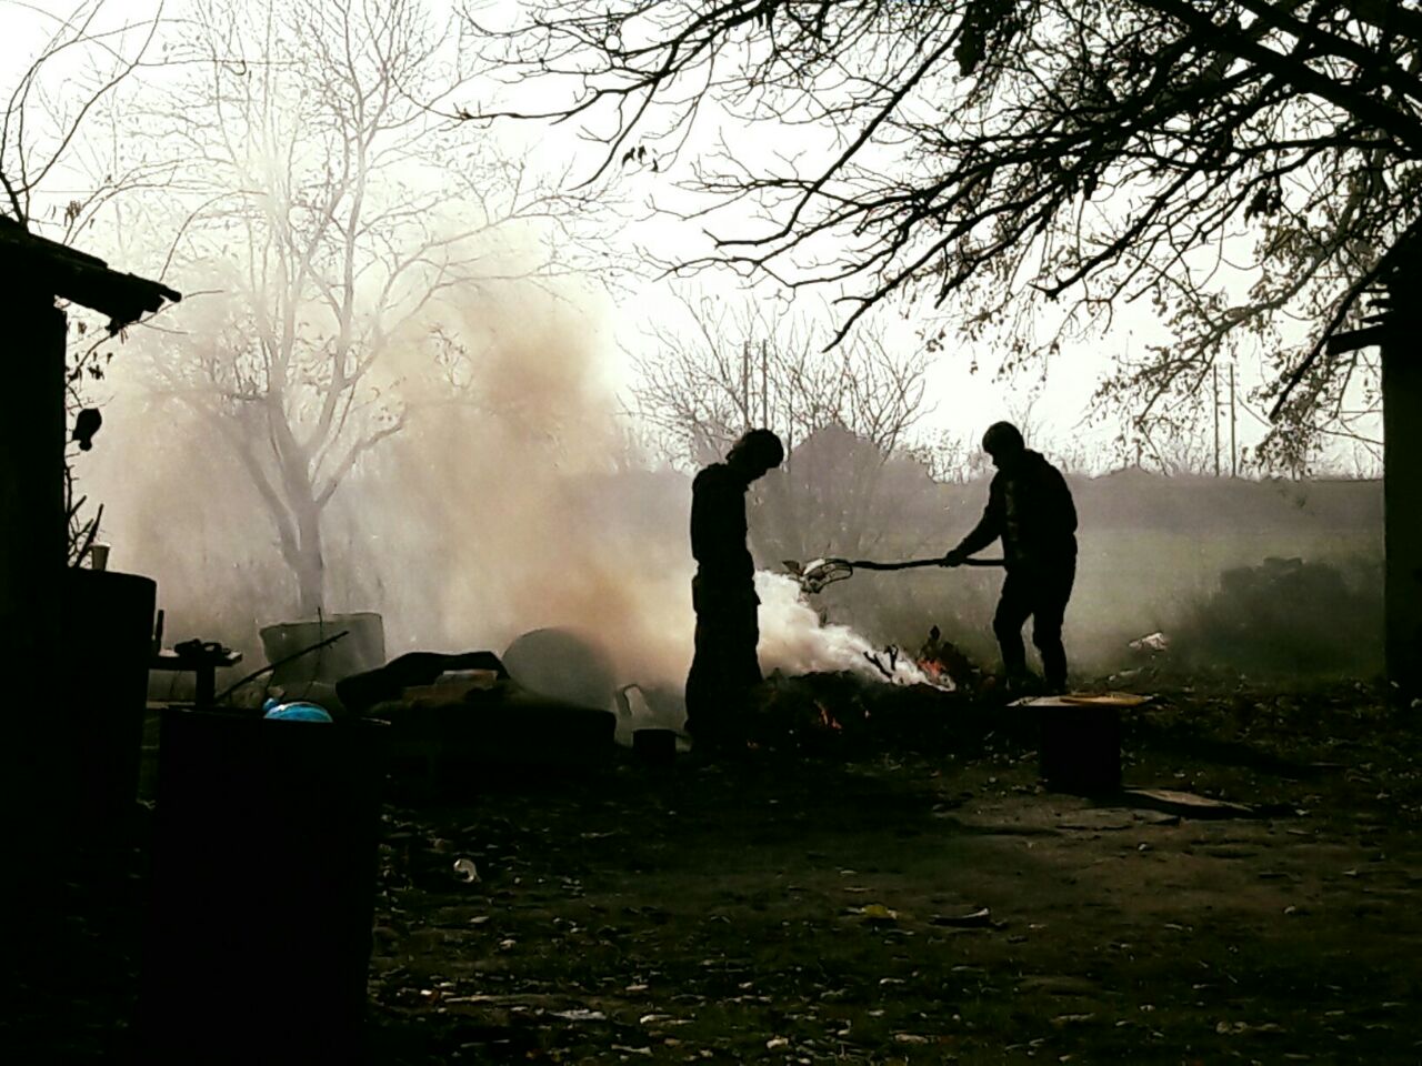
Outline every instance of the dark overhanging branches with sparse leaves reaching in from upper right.
[[(1280, 462), (1365, 370), (1315, 338), (1422, 217), (1422, 13), (1385, 0), (536, 0), (496, 41), (569, 91), (485, 117), (577, 117), (594, 176), (650, 152), (762, 212), (691, 266), (845, 286), (846, 328), (927, 294), (1010, 362), (1145, 298), (1175, 340), (1106, 394), (1149, 419), (1223, 351), (1261, 351), (1270, 397), (1307, 364)], [(681, 159), (715, 115), (799, 131), (803, 158)], [(1288, 341), (1290, 318), (1322, 328)]]

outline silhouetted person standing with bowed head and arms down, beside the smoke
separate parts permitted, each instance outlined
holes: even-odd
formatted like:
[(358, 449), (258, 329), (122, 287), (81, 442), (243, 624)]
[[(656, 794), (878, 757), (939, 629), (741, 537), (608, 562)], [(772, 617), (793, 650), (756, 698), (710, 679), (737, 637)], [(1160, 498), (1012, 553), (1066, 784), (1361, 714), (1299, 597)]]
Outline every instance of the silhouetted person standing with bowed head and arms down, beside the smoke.
[(697, 576), (695, 657), (687, 677), (687, 731), (702, 752), (744, 746), (744, 719), (761, 684), (755, 566), (745, 546), (745, 490), (785, 458), (769, 429), (745, 434), (724, 463), (712, 463), (691, 483), (691, 554)]

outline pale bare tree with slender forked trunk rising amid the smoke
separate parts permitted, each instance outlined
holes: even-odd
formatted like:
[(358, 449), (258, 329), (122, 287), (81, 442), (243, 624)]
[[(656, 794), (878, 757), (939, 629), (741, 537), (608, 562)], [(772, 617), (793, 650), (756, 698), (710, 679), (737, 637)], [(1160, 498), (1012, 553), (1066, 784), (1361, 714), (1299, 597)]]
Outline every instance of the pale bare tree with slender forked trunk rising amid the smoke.
[(576, 274), (580, 200), (418, 102), (454, 74), (415, 0), (201, 0), (188, 30), (198, 72), (158, 117), (178, 260), (215, 294), (158, 368), (240, 461), (311, 617), (327, 505), (448, 354), (441, 301)]

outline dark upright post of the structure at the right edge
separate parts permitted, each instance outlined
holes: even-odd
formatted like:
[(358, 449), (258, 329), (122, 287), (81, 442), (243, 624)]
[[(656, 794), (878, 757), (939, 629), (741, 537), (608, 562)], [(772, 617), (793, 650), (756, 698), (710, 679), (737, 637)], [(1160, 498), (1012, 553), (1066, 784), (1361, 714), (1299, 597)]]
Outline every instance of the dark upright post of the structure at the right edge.
[(1392, 310), (1382, 344), (1384, 543), (1388, 679), (1404, 699), (1422, 695), (1422, 254), (1389, 281)]

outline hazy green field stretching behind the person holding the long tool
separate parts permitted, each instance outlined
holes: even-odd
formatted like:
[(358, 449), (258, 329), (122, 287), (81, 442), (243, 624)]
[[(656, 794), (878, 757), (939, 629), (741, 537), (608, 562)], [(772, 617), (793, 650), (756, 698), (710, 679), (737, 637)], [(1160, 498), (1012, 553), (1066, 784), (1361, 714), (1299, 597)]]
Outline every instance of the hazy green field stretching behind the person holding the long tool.
[[(1081, 520), (1076, 590), (1066, 613), (1066, 641), (1082, 669), (1112, 669), (1132, 661), (1128, 641), (1158, 630), (1183, 632), (1189, 623), (1223, 632), (1239, 618), (1200, 617), (1219, 590), (1220, 574), (1257, 567), (1268, 557), (1298, 557), (1338, 567), (1362, 590), (1364, 610), (1347, 614), (1358, 647), (1375, 641), (1368, 611), (1381, 624), (1382, 486), (1369, 480), (1249, 480), (1165, 478), (1121, 470), (1069, 479)], [(931, 556), (963, 536), (987, 499), (985, 480), (916, 488), (877, 505), (879, 559)], [(754, 527), (752, 522), (752, 527)], [(826, 534), (829, 543), (832, 534)], [(1000, 554), (993, 546), (984, 556)], [(1000, 571), (856, 576), (819, 597), (832, 621), (856, 625), (876, 642), (916, 648), (930, 625), (985, 664), (997, 664), (991, 634)], [(1297, 597), (1295, 597), (1297, 598)], [(1368, 604), (1372, 604), (1371, 607)], [(1219, 605), (1217, 605), (1219, 607)], [(1291, 624), (1317, 607), (1308, 624), (1330, 623), (1330, 604), (1308, 596), (1287, 604), (1274, 623), (1251, 618), (1250, 632), (1283, 617)], [(1267, 613), (1256, 613), (1263, 615)], [(1280, 640), (1297, 638), (1281, 632)], [(1267, 640), (1260, 634), (1257, 640)]]

